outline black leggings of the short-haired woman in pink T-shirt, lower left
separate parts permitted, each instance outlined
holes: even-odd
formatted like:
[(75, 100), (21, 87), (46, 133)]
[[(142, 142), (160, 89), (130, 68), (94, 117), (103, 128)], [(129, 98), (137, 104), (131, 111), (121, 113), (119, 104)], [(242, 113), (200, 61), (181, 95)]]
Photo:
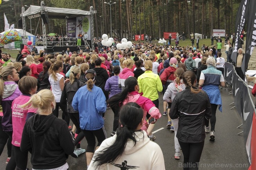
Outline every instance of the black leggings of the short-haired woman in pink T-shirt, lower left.
[(12, 145), (12, 155), (9, 163), (6, 166), (6, 170), (13, 170), (14, 166), (17, 166), (15, 170), (26, 170), (28, 163), (28, 152), (21, 152), (20, 147)]

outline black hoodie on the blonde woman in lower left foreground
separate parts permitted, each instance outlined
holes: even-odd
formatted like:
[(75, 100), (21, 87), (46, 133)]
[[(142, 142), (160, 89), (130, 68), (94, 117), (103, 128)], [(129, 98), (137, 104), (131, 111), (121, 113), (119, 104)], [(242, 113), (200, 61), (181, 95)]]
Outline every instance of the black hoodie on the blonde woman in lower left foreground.
[(31, 151), (33, 169), (53, 169), (63, 166), (75, 144), (67, 123), (53, 114), (35, 114), (25, 124), (20, 150)]

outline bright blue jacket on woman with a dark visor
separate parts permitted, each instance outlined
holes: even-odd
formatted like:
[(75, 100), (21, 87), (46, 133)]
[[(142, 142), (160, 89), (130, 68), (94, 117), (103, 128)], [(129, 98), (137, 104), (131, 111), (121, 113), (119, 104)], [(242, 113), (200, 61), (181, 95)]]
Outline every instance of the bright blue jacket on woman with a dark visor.
[(106, 111), (107, 104), (101, 88), (94, 85), (89, 91), (87, 85), (81, 87), (75, 93), (72, 107), (79, 111), (81, 129), (98, 130), (104, 126), (102, 113)]

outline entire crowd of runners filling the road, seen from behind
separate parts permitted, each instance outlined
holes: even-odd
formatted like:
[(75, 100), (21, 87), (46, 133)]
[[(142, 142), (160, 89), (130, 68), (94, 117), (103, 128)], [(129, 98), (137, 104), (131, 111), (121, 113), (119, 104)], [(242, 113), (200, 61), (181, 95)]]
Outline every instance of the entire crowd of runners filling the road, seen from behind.
[[(34, 56), (25, 46), (16, 62), (4, 52), (1, 57), (0, 154), (7, 144), (6, 170), (26, 170), (28, 152), (34, 170), (67, 170), (68, 155), (83, 153), (90, 170), (165, 169), (152, 134), (159, 118), (175, 132), (174, 157), (180, 159), (182, 149), (184, 170), (198, 169), (205, 133), (215, 139), (225, 87), (225, 59), (215, 46), (137, 43), (117, 50), (113, 44)], [(114, 115), (110, 138), (107, 108)], [(81, 148), (84, 138), (87, 147)]]

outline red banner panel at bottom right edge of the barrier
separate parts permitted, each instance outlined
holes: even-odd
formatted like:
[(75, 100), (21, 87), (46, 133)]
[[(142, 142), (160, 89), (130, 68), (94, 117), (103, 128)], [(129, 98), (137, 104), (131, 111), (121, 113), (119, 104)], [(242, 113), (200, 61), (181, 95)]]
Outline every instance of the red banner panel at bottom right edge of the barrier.
[(251, 169), (256, 169), (256, 116), (253, 113), (253, 128), (252, 128), (252, 138), (251, 138)]

